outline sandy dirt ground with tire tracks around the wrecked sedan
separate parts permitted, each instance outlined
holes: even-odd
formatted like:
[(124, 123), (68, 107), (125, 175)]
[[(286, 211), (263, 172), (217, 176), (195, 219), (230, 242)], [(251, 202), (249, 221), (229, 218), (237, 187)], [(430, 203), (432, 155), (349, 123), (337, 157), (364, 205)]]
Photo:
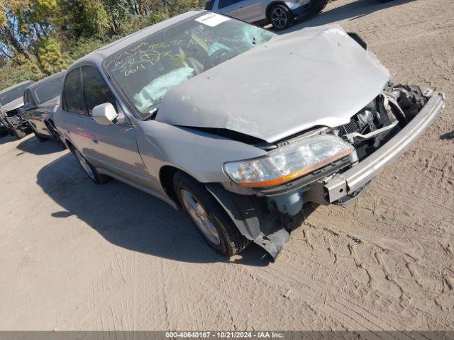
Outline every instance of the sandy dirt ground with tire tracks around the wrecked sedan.
[[(0, 329), (453, 329), (454, 4), (338, 0), (341, 23), (445, 110), (348, 208), (317, 208), (275, 263), (231, 261), (182, 212), (94, 186), (35, 137), (0, 140)], [(329, 96), (329, 94), (326, 94)]]

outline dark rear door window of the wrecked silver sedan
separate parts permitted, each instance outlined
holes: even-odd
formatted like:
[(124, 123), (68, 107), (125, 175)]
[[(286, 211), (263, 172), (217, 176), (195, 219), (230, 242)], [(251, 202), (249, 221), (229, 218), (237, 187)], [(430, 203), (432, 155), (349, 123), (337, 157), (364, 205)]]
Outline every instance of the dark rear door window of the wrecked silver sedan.
[(85, 108), (82, 84), (80, 79), (80, 68), (73, 69), (68, 73), (63, 88), (63, 110), (78, 115), (88, 115)]

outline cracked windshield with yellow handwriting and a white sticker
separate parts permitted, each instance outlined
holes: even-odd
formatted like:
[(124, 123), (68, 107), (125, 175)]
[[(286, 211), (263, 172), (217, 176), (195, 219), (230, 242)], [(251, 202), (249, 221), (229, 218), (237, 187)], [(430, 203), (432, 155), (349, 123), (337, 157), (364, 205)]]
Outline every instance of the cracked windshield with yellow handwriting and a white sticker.
[(173, 86), (273, 36), (257, 26), (204, 13), (111, 55), (104, 67), (138, 109), (139, 118), (146, 119)]

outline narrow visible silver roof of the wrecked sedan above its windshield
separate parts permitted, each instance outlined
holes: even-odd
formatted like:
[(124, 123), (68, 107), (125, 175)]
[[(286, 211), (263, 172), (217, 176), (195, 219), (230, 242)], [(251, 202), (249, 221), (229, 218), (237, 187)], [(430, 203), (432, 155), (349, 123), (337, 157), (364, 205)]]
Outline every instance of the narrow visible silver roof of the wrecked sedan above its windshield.
[(188, 18), (192, 18), (194, 16), (199, 15), (200, 13), (204, 13), (206, 11), (201, 10), (201, 11), (189, 11), (183, 14), (180, 14), (179, 16), (174, 16), (173, 18), (167, 19), (165, 21), (160, 21), (159, 23), (155, 23), (155, 25), (144, 28), (143, 30), (139, 30), (138, 32), (135, 32), (131, 35), (126, 36), (125, 38), (121, 38), (120, 40), (116, 40), (114, 42), (111, 42), (109, 45), (105, 45), (98, 50), (95, 50), (89, 55), (86, 55), (76, 62), (72, 64), (70, 69), (72, 67), (77, 66), (77, 64), (80, 64), (82, 62), (94, 62), (95, 64), (101, 64), (101, 62), (106, 59), (106, 57), (109, 57), (110, 55), (113, 55), (114, 53), (123, 50), (123, 48), (128, 47), (129, 45), (133, 44), (134, 42), (138, 42), (144, 38), (147, 38), (150, 35), (153, 35), (157, 32), (160, 32), (161, 30), (165, 30), (166, 28), (169, 28), (170, 26), (175, 25), (176, 23), (179, 23), (181, 21), (184, 21)]

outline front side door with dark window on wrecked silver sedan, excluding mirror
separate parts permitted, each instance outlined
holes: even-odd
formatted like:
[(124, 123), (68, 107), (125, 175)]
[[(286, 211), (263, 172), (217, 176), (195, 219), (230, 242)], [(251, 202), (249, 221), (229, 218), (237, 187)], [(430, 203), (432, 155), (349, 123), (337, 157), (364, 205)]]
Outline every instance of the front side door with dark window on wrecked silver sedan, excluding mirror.
[(91, 117), (93, 108), (103, 103), (111, 103), (120, 110), (99, 69), (92, 64), (82, 66), (82, 88), (89, 113), (86, 126), (93, 135), (87, 148), (89, 161), (123, 180), (150, 186), (150, 175), (138, 152), (135, 130), (128, 118), (122, 124), (101, 125)]

